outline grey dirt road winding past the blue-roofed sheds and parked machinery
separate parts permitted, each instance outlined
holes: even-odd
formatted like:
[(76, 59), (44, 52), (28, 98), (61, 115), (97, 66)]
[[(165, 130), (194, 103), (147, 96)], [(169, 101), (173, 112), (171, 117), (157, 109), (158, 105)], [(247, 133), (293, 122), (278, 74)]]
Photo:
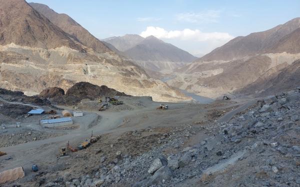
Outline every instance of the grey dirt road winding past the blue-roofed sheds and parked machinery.
[[(132, 111), (111, 112), (104, 111), (94, 113), (101, 116), (99, 124), (92, 126), (89, 129), (78, 128), (70, 131), (68, 134), (50, 138), (41, 141), (1, 148), (1, 151), (8, 153), (12, 157), (8, 161), (0, 161), (0, 172), (22, 166), (25, 171), (29, 171), (32, 164), (38, 164), (42, 169), (57, 161), (59, 149), (65, 147), (67, 141), (75, 146), (79, 142), (89, 138), (91, 131), (95, 135), (106, 134), (110, 132), (126, 132), (129, 130), (158, 127), (158, 126), (176, 126), (192, 122), (193, 120), (204, 119), (206, 110), (203, 105), (197, 104), (182, 104), (169, 103), (168, 110), (155, 110), (158, 103), (144, 101), (145, 108), (135, 108)], [(246, 108), (240, 107), (236, 111)], [(90, 111), (89, 111), (90, 112)], [(223, 120), (228, 119), (234, 112), (229, 112), (230, 115), (225, 115)], [(82, 122), (83, 123), (83, 122)], [(84, 124), (87, 126), (88, 124)]]

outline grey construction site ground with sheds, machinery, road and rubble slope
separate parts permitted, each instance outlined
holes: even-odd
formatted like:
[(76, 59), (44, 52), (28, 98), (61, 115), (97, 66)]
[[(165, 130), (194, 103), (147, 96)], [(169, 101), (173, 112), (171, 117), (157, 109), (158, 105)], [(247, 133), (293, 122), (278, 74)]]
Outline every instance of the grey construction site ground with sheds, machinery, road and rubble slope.
[[(285, 126), (282, 121), (291, 119), (290, 127), (298, 124), (299, 93), (300, 88), (258, 101), (223, 97), (209, 104), (104, 95), (71, 105), (52, 104), (57, 101), (51, 98), (46, 105), (9, 101), (9, 95), (0, 94), (1, 107), (22, 109), (0, 114), (0, 184), (208, 187), (231, 186), (222, 179), (232, 175), (244, 187), (257, 180), (277, 184), (276, 176), (285, 181), (283, 171), (293, 162), (298, 166), (297, 157), (289, 162), (293, 155), (286, 155), (297, 151), (299, 139), (292, 132), (293, 139), (275, 136), (284, 128), (272, 128), (272, 123)], [(267, 116), (271, 111), (277, 117)], [(261, 154), (271, 161), (255, 160)], [(282, 154), (285, 159), (279, 161)], [(254, 168), (244, 167), (248, 164)]]

